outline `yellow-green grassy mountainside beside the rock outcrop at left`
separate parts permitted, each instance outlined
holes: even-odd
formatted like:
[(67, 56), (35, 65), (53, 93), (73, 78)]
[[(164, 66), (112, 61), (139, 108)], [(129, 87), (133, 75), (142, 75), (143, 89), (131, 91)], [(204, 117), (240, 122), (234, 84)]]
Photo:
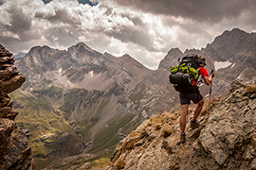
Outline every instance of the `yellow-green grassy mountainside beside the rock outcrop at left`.
[(46, 158), (48, 155), (68, 156), (81, 153), (75, 144), (81, 144), (82, 141), (64, 119), (60, 105), (52, 105), (54, 96), (61, 93), (60, 89), (50, 87), (46, 91), (33, 93), (34, 96), (18, 90), (10, 94), (13, 107), (19, 111), (15, 120), (17, 125), (29, 130), (29, 145), (33, 155)]

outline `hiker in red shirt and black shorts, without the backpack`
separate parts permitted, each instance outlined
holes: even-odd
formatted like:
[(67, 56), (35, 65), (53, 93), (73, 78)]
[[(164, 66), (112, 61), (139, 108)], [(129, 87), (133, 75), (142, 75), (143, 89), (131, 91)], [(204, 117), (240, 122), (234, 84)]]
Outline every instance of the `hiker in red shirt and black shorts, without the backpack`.
[[(209, 76), (206, 68), (204, 68), (204, 66), (206, 65), (205, 58), (199, 57), (198, 60), (199, 60), (199, 65), (200, 65), (198, 68), (199, 73), (202, 76), (202, 79), (204, 79), (204, 82), (209, 86), (212, 81), (212, 77), (214, 77), (215, 75), (213, 73), (211, 73)], [(191, 127), (192, 128), (200, 127), (200, 124), (197, 123), (196, 119), (197, 119), (198, 115), (200, 114), (201, 110), (203, 109), (204, 98), (198, 90), (199, 87), (197, 87), (195, 84), (194, 84), (194, 86), (196, 88), (193, 92), (190, 92), (190, 93), (180, 92), (179, 93), (180, 105), (181, 105), (181, 116), (179, 119), (179, 126), (180, 126), (180, 130), (181, 130), (180, 143), (186, 142), (186, 134), (185, 134), (186, 116), (188, 114), (188, 108), (189, 108), (189, 105), (191, 104), (191, 100), (194, 104), (197, 104), (197, 107), (193, 113)]]

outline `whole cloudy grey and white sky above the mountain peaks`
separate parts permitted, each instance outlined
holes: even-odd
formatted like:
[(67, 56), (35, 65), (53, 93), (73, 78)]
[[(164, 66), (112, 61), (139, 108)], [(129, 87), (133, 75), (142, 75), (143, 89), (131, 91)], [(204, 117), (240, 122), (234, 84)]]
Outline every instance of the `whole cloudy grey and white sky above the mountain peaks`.
[(171, 48), (201, 49), (225, 30), (256, 32), (255, 0), (0, 0), (0, 43), (67, 49), (84, 42), (156, 69)]

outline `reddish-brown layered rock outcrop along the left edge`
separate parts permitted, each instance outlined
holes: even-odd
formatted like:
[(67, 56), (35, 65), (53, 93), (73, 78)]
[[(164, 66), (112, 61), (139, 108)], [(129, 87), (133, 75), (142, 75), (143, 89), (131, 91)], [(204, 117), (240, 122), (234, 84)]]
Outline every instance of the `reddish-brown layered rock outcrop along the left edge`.
[(0, 45), (0, 169), (35, 169), (28, 131), (14, 122), (18, 112), (12, 110), (9, 93), (21, 87), (25, 76), (14, 66), (14, 58)]

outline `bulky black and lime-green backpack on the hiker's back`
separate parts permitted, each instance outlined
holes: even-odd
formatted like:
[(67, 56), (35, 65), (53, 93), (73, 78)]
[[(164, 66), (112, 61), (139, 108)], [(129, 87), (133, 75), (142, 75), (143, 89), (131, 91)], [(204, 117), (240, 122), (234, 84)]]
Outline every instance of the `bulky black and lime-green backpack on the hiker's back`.
[[(181, 59), (177, 66), (171, 66), (169, 80), (174, 84), (176, 91), (185, 93), (192, 90), (197, 90), (197, 80), (200, 75), (197, 70), (200, 67), (199, 57), (195, 54), (190, 54)], [(192, 84), (192, 80), (195, 84)]]

